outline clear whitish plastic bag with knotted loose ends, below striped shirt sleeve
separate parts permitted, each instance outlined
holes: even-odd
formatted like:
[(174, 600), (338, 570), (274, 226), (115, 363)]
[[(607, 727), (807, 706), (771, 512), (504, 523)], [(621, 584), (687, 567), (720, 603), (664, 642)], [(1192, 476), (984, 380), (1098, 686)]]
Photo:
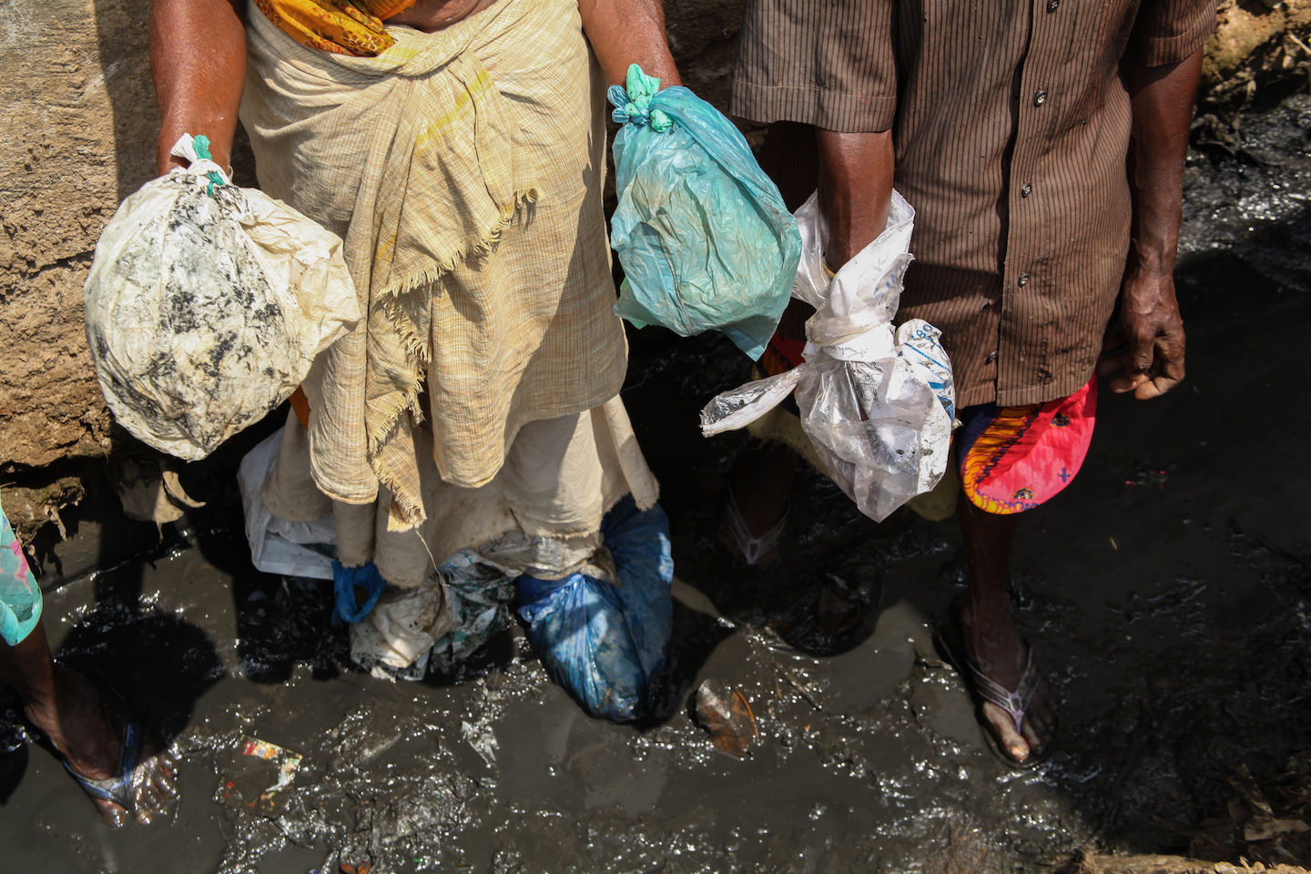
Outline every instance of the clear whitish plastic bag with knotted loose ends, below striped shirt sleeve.
[(793, 389), (801, 428), (829, 476), (876, 522), (932, 490), (947, 470), (954, 392), (941, 332), (893, 316), (910, 266), (915, 211), (893, 193), (882, 235), (829, 278), (815, 195), (797, 210), (801, 265), (792, 295), (815, 308), (805, 362), (724, 392), (701, 410), (705, 436), (741, 428)]

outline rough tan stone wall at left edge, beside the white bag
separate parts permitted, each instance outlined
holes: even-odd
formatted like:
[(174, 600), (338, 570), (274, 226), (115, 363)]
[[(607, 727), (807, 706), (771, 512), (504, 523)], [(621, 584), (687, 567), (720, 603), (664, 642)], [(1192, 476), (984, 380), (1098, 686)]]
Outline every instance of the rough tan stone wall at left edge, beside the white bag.
[(157, 130), (147, 0), (0, 4), (0, 432), (4, 469), (111, 447), (83, 280)]

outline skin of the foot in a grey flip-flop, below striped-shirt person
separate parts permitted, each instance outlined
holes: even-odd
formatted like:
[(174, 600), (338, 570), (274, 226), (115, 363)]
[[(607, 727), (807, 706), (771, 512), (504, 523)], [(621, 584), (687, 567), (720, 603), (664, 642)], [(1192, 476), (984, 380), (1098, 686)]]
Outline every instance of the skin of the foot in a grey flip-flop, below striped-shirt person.
[[(1029, 650), (1011, 618), (1009, 601), (1006, 607), (1000, 612), (977, 609), (971, 608), (970, 599), (965, 599), (958, 620), (970, 663), (990, 680), (1013, 691), (1024, 676)], [(1021, 764), (1030, 757), (1041, 759), (1047, 752), (1057, 725), (1055, 702), (1046, 680), (1038, 680), (1029, 700), (1023, 734), (1015, 730), (1011, 715), (991, 701), (983, 702), (983, 719), (1003, 755)]]

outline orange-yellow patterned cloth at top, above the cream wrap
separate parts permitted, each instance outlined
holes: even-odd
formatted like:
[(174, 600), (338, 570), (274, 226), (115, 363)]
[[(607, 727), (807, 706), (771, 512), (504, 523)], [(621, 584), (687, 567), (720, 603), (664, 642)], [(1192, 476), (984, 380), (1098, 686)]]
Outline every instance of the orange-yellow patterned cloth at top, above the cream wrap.
[(383, 21), (414, 0), (254, 0), (260, 12), (302, 46), (374, 58), (395, 45)]

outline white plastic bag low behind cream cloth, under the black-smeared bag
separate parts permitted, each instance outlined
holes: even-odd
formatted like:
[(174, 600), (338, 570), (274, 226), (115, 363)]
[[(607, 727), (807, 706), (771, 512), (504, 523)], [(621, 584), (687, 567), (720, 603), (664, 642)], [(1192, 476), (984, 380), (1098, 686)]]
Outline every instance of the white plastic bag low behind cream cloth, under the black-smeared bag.
[[(298, 426), (299, 427), (299, 426)], [(246, 452), (237, 468), (246, 540), (256, 570), (286, 577), (332, 579), (332, 557), (311, 545), (333, 546), (337, 528), (332, 514), (316, 522), (287, 522), (273, 515), (264, 502), (264, 484), (278, 463), (282, 431), (275, 431)]]

